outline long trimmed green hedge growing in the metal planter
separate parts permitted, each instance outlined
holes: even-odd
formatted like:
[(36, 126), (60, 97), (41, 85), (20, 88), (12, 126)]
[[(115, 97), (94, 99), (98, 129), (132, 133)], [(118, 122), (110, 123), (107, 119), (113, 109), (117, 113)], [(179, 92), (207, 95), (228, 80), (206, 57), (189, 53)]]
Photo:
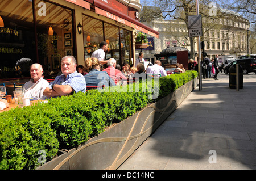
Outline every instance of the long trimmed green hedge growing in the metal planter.
[(35, 169), (42, 165), (39, 150), (45, 151), (49, 161), (58, 149), (75, 148), (102, 133), (106, 126), (134, 115), (197, 75), (196, 71), (186, 71), (159, 78), (157, 99), (148, 99), (150, 92), (139, 91), (146, 86), (140, 82), (138, 87), (133, 86), (134, 92), (128, 91), (129, 85), (123, 87), (127, 92), (111, 92), (111, 88), (108, 92), (90, 90), (2, 112), (0, 169)]

